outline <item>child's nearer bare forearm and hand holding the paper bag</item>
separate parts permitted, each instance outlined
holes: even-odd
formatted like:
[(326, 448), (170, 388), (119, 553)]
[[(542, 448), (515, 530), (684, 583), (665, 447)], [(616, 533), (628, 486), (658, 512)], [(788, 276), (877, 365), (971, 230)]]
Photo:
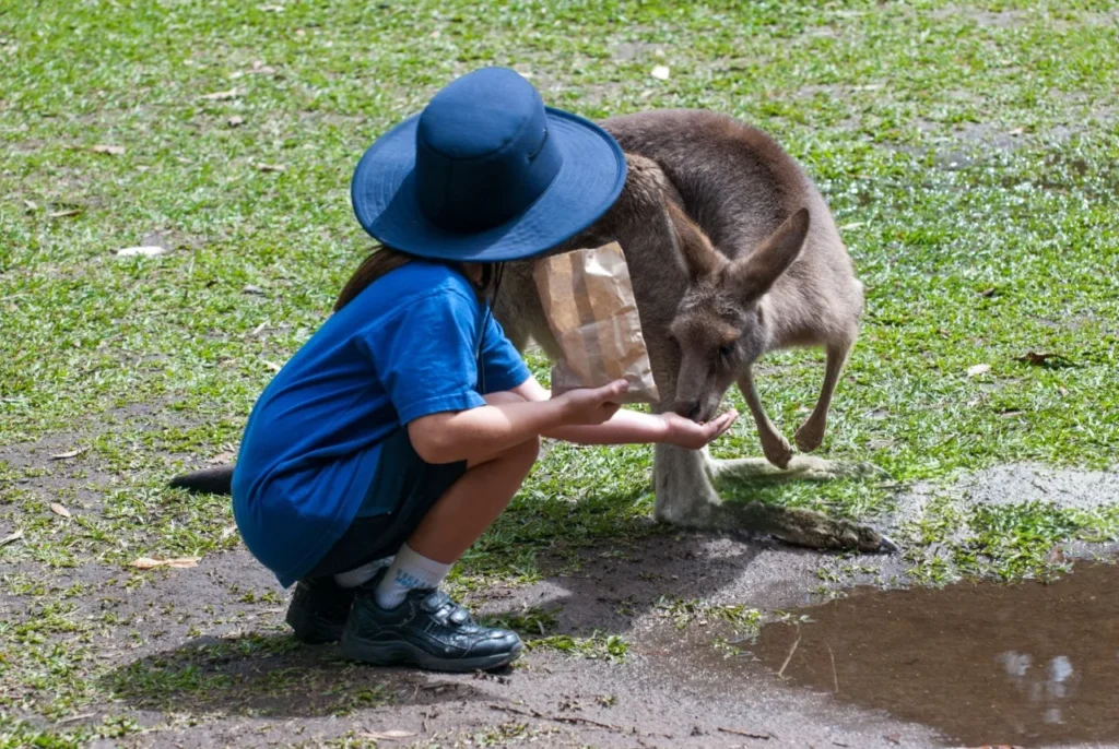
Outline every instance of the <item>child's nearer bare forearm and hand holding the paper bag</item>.
[(528, 402), (526, 398), (431, 414), (408, 424), (408, 439), (427, 463), (481, 462), (564, 426), (602, 424), (617, 414), (618, 404), (610, 401), (624, 390), (626, 381), (619, 380), (604, 388), (572, 390), (543, 402)]

